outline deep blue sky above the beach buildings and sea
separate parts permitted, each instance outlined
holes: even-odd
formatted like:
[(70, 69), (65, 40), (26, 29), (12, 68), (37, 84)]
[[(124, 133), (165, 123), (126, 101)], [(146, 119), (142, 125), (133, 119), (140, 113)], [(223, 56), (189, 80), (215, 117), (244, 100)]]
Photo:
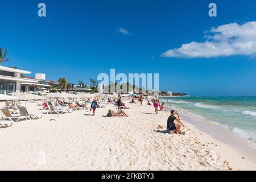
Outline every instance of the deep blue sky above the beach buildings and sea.
[[(46, 18), (37, 14), (40, 2), (46, 3)], [(210, 2), (217, 4), (217, 17), (208, 16)], [(221, 45), (214, 56), (200, 46), (205, 47), (207, 35), (223, 31), (218, 26), (230, 23), (238, 26), (225, 30), (242, 32), (237, 44), (249, 42), (243, 31), (250, 26), (242, 25), (256, 21), (256, 1), (10, 0), (1, 7), (0, 46), (9, 48), (10, 58), (2, 65), (26, 69), (31, 76), (46, 73), (48, 80), (67, 77), (89, 84), (89, 77), (115, 68), (117, 73), (159, 73), (160, 90), (255, 96), (254, 50), (234, 47), (223, 55), (222, 46), (235, 46), (225, 44), (227, 37), (210, 40), (210, 46)], [(217, 33), (209, 32), (212, 27)], [(182, 44), (193, 46), (192, 53), (179, 49)]]

